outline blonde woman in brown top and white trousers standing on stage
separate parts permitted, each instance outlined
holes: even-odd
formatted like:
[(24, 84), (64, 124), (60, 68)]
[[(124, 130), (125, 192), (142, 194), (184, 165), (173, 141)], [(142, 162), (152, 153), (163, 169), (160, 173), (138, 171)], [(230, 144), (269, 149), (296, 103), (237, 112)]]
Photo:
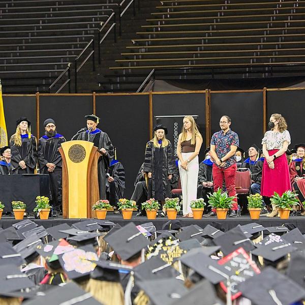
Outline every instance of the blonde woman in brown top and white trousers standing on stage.
[(193, 217), (190, 204), (197, 197), (198, 154), (202, 142), (202, 136), (193, 116), (185, 116), (182, 132), (179, 134), (177, 144), (184, 217)]

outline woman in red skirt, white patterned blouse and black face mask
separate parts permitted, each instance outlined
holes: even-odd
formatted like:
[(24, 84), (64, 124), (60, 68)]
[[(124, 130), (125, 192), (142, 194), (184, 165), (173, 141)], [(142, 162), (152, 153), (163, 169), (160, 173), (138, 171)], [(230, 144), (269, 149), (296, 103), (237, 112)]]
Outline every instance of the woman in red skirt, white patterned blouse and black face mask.
[[(290, 144), (290, 134), (285, 118), (278, 113), (272, 114), (268, 124), (270, 130), (262, 139), (265, 161), (262, 172), (261, 195), (271, 197), (275, 192), (280, 196), (291, 191), (286, 150)], [(267, 217), (275, 217), (278, 210), (272, 204), (272, 212)]]

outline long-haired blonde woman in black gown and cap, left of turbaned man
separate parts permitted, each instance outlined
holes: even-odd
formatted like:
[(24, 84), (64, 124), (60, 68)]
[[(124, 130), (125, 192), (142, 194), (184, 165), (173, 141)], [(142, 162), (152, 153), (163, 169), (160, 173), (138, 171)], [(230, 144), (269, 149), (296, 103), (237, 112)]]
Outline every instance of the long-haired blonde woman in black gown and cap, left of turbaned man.
[(16, 133), (10, 140), (12, 174), (34, 174), (37, 164), (37, 141), (31, 134), (31, 122), (26, 117), (20, 117), (16, 123)]

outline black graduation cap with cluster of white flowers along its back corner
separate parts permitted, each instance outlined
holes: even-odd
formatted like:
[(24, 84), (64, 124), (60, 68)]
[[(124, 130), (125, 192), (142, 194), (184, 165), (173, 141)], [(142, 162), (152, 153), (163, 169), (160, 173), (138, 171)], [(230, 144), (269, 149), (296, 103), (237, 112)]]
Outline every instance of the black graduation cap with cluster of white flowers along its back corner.
[(269, 234), (262, 241), (256, 244), (257, 249), (252, 251), (254, 255), (260, 255), (264, 259), (275, 262), (276, 260), (286, 256), (288, 253), (296, 251), (290, 242), (274, 233)]

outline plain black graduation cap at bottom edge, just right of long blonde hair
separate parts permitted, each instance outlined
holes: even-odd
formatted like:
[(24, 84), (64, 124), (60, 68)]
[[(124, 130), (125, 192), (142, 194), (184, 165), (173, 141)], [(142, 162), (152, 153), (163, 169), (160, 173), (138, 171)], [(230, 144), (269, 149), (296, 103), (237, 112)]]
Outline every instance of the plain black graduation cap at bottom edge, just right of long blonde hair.
[(176, 279), (139, 281), (137, 285), (150, 298), (152, 305), (169, 305), (187, 293), (183, 282)]

